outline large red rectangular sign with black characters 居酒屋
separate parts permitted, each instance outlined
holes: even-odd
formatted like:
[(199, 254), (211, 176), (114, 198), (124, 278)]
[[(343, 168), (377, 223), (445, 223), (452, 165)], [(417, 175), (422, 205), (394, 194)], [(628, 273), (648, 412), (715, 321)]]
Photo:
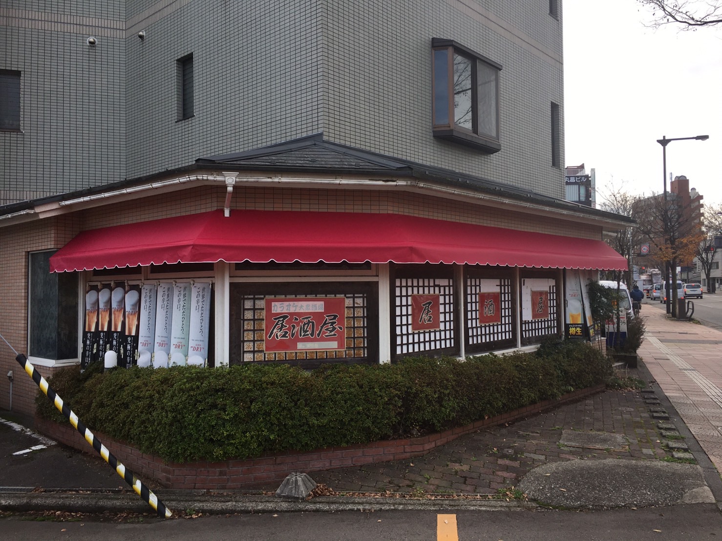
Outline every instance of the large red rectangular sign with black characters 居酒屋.
[(266, 353), (346, 349), (346, 298), (266, 297)]

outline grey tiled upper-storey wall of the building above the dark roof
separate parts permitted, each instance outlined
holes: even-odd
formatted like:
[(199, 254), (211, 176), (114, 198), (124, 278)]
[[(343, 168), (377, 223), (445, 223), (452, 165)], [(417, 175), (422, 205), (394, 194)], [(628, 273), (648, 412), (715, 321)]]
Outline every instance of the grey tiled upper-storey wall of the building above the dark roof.
[[(23, 107), (22, 133), (0, 133), (0, 203), (320, 131), (331, 141), (563, 198), (550, 120), (551, 102), (563, 115), (562, 28), (546, 2), (59, 5), (61, 12), (56, 2), (12, 0), (0, 8), (7, 51), (0, 69), (22, 71)], [(85, 43), (89, 35), (95, 48)], [(503, 66), (497, 154), (432, 137), (435, 37)], [(195, 115), (178, 121), (176, 61), (190, 53)]]

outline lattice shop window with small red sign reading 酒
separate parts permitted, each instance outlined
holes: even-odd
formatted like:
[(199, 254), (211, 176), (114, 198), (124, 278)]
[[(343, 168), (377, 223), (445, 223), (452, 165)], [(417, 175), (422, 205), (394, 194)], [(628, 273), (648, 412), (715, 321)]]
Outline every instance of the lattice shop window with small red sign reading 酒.
[(466, 268), (466, 353), (516, 346), (513, 276), (503, 269)]

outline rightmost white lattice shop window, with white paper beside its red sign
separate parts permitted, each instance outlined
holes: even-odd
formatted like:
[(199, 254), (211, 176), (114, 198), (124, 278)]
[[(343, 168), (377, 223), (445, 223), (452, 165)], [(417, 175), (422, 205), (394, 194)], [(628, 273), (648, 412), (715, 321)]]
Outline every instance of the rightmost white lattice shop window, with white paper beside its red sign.
[(557, 276), (553, 272), (521, 276), (521, 344), (539, 343), (560, 334)]

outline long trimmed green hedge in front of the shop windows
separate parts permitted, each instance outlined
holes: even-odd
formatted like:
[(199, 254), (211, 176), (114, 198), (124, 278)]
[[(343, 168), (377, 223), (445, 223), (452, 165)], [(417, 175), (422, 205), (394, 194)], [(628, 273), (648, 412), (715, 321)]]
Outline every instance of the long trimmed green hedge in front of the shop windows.
[[(59, 371), (50, 384), (80, 419), (142, 452), (186, 462), (244, 459), (463, 426), (605, 381), (611, 363), (587, 343), (465, 361)], [(38, 413), (65, 422), (42, 393)]]

